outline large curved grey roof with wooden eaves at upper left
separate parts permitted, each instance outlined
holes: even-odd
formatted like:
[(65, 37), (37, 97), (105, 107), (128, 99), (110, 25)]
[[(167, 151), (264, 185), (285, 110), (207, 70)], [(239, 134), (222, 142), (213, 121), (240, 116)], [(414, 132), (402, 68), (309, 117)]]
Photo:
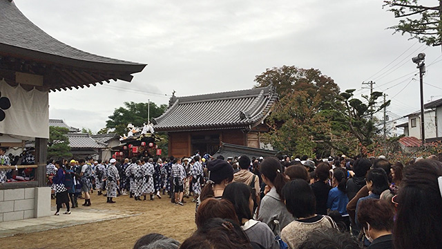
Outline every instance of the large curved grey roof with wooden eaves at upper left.
[[(51, 37), (10, 0), (0, 0), (0, 55), (4, 69), (44, 76), (44, 89), (84, 88), (109, 80), (130, 82), (146, 64), (84, 52)], [(0, 67), (0, 69), (3, 69)], [(5, 77), (16, 82), (15, 73)]]

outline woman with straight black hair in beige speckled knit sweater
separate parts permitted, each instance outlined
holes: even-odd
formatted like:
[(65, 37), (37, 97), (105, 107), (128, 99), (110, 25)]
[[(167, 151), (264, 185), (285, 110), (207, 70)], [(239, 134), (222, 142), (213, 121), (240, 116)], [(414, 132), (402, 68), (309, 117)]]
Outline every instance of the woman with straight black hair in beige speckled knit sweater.
[(282, 189), (287, 210), (296, 220), (281, 231), (281, 239), (289, 248), (296, 249), (314, 230), (336, 228), (336, 223), (326, 215), (315, 214), (316, 199), (309, 184), (300, 179), (287, 183)]

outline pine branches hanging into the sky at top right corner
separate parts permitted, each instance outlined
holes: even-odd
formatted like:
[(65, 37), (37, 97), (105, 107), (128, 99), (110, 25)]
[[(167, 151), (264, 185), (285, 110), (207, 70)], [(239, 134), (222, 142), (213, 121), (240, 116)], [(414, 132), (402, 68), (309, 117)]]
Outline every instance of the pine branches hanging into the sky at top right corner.
[(402, 35), (408, 33), (411, 39), (418, 39), (427, 45), (441, 46), (442, 44), (442, 1), (434, 1), (434, 6), (423, 6), (418, 0), (384, 1), (399, 23), (390, 28)]

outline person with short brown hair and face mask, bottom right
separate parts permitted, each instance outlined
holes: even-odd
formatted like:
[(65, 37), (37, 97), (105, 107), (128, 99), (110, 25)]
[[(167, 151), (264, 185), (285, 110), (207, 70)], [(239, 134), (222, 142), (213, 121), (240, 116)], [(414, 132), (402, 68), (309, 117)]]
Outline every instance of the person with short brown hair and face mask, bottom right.
[(365, 199), (359, 203), (358, 221), (371, 244), (368, 249), (393, 248), (393, 210), (389, 203)]

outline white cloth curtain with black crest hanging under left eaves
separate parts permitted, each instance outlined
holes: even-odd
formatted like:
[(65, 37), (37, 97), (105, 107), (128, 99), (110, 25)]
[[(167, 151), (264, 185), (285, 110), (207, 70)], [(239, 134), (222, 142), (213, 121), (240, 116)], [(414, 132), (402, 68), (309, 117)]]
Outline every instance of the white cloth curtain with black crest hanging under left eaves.
[[(0, 133), (28, 138), (49, 138), (49, 93), (32, 89), (26, 91), (20, 85), (10, 86), (0, 80), (0, 102), (10, 101), (10, 107), (1, 109)], [(2, 100), (3, 99), (3, 100)], [(4, 105), (3, 105), (4, 108)]]

